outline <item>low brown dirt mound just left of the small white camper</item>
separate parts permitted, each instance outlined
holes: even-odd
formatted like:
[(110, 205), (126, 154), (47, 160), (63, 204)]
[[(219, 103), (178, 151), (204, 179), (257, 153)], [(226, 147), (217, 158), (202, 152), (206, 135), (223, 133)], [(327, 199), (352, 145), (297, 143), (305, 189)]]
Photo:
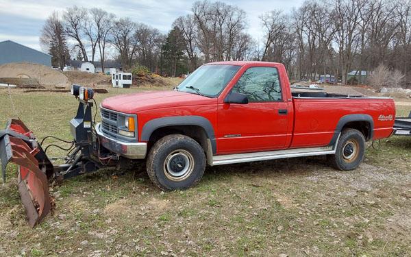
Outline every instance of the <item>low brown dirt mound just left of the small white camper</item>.
[(64, 71), (71, 84), (97, 87), (98, 85), (111, 86), (111, 77), (102, 73), (88, 73), (83, 71)]

